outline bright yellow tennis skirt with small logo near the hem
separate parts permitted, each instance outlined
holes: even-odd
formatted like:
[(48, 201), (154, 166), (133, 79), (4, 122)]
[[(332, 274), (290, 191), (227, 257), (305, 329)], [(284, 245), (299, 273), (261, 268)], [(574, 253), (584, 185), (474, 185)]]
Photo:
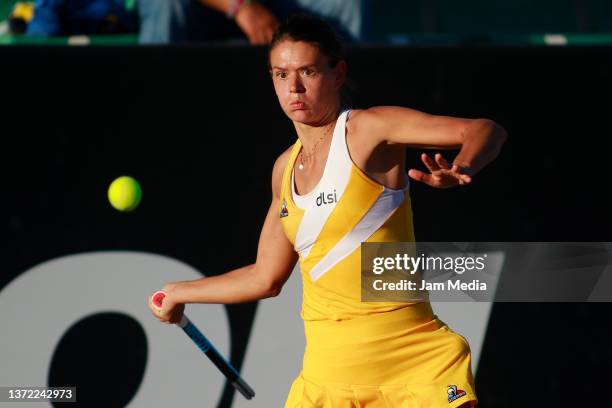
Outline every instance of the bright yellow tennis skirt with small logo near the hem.
[(285, 408), (456, 408), (477, 402), (470, 347), (429, 303), (305, 321), (304, 327), (304, 364)]

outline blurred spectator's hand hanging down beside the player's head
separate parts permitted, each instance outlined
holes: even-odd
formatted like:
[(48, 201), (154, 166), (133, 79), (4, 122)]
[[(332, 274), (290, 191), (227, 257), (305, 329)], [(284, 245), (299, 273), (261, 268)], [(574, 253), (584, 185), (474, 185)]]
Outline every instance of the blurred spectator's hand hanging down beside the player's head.
[(236, 14), (236, 24), (253, 45), (269, 44), (278, 20), (259, 3), (244, 5)]

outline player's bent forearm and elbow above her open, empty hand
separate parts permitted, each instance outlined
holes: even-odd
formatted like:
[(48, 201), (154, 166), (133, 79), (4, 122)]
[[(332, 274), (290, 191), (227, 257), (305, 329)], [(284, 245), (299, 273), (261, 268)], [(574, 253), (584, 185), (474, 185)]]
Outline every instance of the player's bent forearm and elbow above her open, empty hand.
[(497, 123), (476, 120), (465, 129), (461, 150), (453, 163), (476, 174), (497, 157), (506, 138), (506, 130)]

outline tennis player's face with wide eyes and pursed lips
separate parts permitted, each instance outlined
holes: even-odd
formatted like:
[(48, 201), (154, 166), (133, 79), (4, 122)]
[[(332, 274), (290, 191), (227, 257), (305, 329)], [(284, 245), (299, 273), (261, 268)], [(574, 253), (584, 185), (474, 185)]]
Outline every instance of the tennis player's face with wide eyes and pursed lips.
[(295, 122), (317, 125), (334, 119), (338, 91), (344, 81), (346, 65), (330, 68), (319, 47), (302, 41), (284, 40), (270, 52), (270, 73), (283, 111)]

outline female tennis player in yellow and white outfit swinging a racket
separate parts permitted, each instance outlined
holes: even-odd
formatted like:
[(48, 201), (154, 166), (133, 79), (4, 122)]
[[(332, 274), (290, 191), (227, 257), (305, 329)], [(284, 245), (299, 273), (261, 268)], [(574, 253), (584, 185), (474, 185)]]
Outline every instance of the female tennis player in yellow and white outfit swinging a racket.
[(361, 302), (361, 242), (415, 241), (406, 147), (460, 148), (454, 162), (423, 155), (408, 176), (436, 188), (467, 185), (500, 151), (506, 132), (488, 119), (409, 108), (342, 109), (347, 65), (326, 23), (290, 18), (269, 52), (278, 101), (297, 140), (272, 171), (272, 203), (254, 264), (170, 283), (166, 323), (186, 303), (276, 296), (299, 262), (306, 350), (285, 407), (470, 407), (477, 402), (467, 341), (429, 302)]

